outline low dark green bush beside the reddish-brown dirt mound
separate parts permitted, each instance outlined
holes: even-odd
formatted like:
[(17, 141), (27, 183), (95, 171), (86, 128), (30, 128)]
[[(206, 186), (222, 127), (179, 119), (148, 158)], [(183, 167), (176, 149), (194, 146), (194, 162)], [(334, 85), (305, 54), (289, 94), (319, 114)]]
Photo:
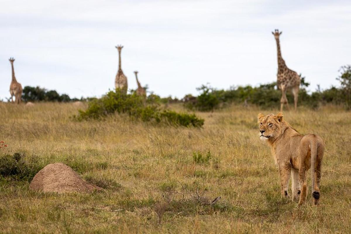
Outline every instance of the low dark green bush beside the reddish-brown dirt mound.
[(0, 156), (0, 175), (4, 177), (31, 181), (41, 168), (36, 160), (27, 158), (23, 153)]

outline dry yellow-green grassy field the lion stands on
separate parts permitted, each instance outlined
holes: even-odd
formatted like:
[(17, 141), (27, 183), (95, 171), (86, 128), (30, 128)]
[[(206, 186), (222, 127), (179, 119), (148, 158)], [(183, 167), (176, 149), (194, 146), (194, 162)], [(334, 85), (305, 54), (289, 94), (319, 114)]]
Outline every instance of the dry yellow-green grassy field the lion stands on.
[(105, 188), (36, 193), (26, 180), (0, 176), (0, 233), (351, 233), (351, 113), (284, 113), (326, 144), (320, 205), (312, 207), (309, 194), (298, 207), (280, 198), (278, 170), (258, 137), (259, 112), (277, 110), (197, 113), (205, 119), (198, 129), (125, 116), (76, 122), (72, 104), (0, 103), (0, 141), (8, 144), (0, 156), (23, 152), (40, 167), (64, 162)]

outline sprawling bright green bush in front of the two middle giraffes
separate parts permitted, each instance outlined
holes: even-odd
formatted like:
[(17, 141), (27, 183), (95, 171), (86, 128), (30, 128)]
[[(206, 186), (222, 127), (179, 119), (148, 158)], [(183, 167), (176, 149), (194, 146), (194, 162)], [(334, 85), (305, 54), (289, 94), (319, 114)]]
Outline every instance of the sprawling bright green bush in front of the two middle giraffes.
[(167, 109), (161, 110), (156, 105), (146, 105), (143, 97), (137, 94), (123, 94), (119, 90), (110, 91), (100, 99), (88, 102), (86, 111), (79, 110), (79, 121), (88, 119), (102, 119), (114, 113), (127, 114), (132, 119), (144, 122), (168, 123), (173, 126), (201, 127), (204, 120), (194, 114), (177, 113)]

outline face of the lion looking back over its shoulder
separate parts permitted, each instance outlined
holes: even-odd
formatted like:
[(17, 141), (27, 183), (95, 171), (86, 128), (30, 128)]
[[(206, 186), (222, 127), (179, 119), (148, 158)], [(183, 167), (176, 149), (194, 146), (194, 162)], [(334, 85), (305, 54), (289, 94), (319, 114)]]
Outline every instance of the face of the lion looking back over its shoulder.
[(280, 112), (277, 115), (269, 114), (266, 116), (259, 113), (257, 119), (261, 140), (274, 141), (274, 139), (282, 134), (283, 113)]

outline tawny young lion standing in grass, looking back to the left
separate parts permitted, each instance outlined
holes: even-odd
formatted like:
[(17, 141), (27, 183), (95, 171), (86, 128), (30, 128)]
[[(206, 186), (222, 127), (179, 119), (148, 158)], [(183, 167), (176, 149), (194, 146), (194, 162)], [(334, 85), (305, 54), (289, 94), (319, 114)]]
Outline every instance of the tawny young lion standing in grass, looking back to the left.
[[(314, 134), (301, 135), (283, 120), (283, 113), (258, 114), (260, 139), (266, 140), (279, 168), (282, 196), (289, 198), (288, 185), (292, 177), (292, 200), (300, 195), (299, 205), (306, 202), (306, 172), (312, 167), (313, 204), (318, 204), (320, 167), (324, 153), (322, 138)], [(312, 165), (312, 166), (311, 166)], [(300, 184), (302, 188), (300, 190)]]

